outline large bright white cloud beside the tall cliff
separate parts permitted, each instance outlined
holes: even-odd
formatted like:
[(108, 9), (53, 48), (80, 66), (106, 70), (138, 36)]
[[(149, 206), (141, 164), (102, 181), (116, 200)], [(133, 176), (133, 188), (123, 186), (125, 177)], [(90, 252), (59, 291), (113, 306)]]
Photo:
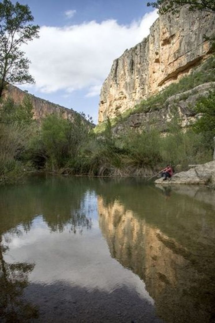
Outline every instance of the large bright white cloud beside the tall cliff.
[(152, 11), (128, 26), (106, 20), (41, 27), (40, 38), (24, 47), (32, 62), (30, 73), (36, 80), (36, 89), (71, 93), (85, 88), (88, 97), (97, 95), (113, 60), (147, 36), (156, 18), (156, 11)]

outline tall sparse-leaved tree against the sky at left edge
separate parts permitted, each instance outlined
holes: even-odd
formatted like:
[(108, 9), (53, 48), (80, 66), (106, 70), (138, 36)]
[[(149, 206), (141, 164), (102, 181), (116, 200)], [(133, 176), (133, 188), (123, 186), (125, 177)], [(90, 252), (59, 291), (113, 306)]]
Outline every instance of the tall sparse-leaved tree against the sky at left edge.
[(8, 83), (34, 83), (28, 72), (30, 61), (21, 50), (23, 44), (38, 38), (39, 26), (32, 25), (33, 20), (28, 5), (0, 3), (0, 98)]

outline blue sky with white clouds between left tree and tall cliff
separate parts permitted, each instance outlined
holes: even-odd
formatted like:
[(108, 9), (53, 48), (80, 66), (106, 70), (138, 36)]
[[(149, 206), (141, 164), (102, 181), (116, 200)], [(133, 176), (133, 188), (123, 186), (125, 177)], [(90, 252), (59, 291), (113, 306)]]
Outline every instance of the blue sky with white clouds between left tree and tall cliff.
[(40, 26), (40, 38), (23, 47), (36, 83), (19, 87), (97, 123), (101, 86), (113, 60), (149, 34), (156, 11), (145, 0), (18, 2), (29, 5)]

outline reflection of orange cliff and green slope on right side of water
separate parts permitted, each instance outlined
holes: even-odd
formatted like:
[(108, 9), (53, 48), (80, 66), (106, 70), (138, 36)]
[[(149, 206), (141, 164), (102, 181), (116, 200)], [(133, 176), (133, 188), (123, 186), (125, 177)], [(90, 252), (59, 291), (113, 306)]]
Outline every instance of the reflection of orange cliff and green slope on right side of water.
[(144, 280), (166, 322), (215, 321), (214, 211), (215, 192), (198, 187), (98, 197), (112, 257)]

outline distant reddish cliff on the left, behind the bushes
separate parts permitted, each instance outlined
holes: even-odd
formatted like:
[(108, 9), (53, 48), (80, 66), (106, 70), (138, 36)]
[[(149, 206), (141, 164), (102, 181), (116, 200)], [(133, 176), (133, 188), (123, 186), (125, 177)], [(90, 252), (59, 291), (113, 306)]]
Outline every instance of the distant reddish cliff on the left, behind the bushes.
[(15, 103), (22, 103), (26, 95), (30, 96), (33, 105), (35, 120), (41, 120), (45, 116), (55, 112), (59, 115), (61, 114), (64, 119), (69, 119), (72, 121), (74, 119), (75, 114), (77, 113), (72, 109), (67, 109), (58, 104), (37, 98), (34, 95), (28, 94), (25, 91), (22, 91), (12, 85), (9, 85), (8, 88), (5, 90), (4, 99), (10, 97), (14, 100)]

